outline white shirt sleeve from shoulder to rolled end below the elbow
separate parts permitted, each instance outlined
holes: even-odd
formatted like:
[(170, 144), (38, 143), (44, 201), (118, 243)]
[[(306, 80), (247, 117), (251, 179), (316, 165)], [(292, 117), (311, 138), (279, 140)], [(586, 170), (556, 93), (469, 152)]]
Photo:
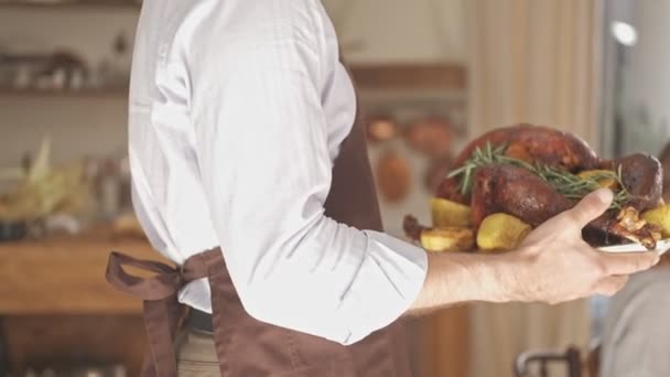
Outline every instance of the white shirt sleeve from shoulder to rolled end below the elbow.
[(245, 310), (352, 344), (409, 309), (426, 255), (324, 215), (333, 161), (321, 21), (311, 0), (267, 3), (272, 13), (208, 14), (193, 35), (190, 107), (202, 182)]

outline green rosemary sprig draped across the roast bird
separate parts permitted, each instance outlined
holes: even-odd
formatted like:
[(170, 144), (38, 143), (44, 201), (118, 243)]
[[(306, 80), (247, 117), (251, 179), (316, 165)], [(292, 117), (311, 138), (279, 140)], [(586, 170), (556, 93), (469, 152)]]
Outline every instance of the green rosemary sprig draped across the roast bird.
[(601, 171), (587, 177), (582, 177), (548, 165), (533, 165), (526, 161), (507, 157), (505, 155), (506, 151), (507, 146), (494, 148), (490, 143), (486, 143), (484, 149), (477, 148), (473, 152), (473, 155), (465, 161), (463, 166), (451, 171), (447, 174), (447, 177), (463, 176), (460, 188), (463, 194), (467, 194), (472, 191), (474, 175), (478, 168), (508, 164), (530, 171), (568, 198), (580, 200), (601, 187), (601, 182), (605, 180), (614, 180), (618, 184), (618, 190), (615, 191), (615, 197), (610, 205), (610, 209), (620, 209), (630, 196), (626, 186), (623, 184), (620, 165), (617, 168), (616, 172)]

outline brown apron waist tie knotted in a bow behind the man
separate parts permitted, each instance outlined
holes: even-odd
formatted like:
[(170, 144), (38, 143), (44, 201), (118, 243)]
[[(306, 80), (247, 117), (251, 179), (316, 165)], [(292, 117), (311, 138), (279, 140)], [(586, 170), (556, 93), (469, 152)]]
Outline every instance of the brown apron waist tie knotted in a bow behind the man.
[[(176, 377), (176, 354), (174, 351), (174, 334), (184, 314), (184, 306), (177, 300), (179, 290), (186, 283), (208, 278), (209, 284), (216, 287), (220, 284), (214, 271), (220, 268), (223, 255), (220, 248), (207, 250), (186, 259), (183, 266), (174, 268), (172, 266), (152, 261), (140, 260), (112, 251), (107, 263), (107, 281), (117, 290), (133, 295), (142, 300), (144, 328), (149, 343), (149, 354), (144, 358), (142, 376), (147, 377)], [(149, 278), (141, 278), (128, 273), (123, 267), (129, 266), (143, 271), (154, 272)], [(214, 267), (214, 268), (213, 268)], [(213, 289), (214, 292), (214, 289)], [(213, 294), (213, 301), (215, 294)], [(213, 308), (215, 308), (213, 305)], [(214, 321), (220, 322), (220, 313), (214, 310)], [(219, 326), (220, 327), (220, 326)], [(215, 330), (217, 355), (219, 362), (223, 360), (223, 347), (220, 340), (223, 331)], [(221, 334), (219, 334), (221, 333)], [(221, 375), (224, 374), (224, 365)]]

